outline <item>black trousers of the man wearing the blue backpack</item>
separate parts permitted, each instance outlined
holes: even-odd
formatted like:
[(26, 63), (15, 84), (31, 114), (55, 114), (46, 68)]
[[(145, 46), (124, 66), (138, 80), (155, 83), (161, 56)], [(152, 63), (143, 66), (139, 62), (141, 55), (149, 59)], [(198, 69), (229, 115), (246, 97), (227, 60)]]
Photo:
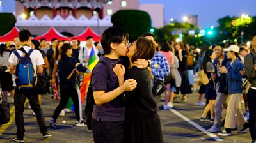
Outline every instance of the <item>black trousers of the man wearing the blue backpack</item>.
[(47, 132), (47, 127), (45, 126), (45, 120), (43, 116), (42, 109), (38, 102), (38, 94), (35, 94), (32, 90), (20, 91), (19, 89), (15, 89), (15, 96), (14, 96), (14, 106), (15, 106), (15, 123), (17, 126), (17, 133), (16, 135), (19, 139), (23, 139), (24, 137), (24, 103), (26, 98), (29, 100), (29, 104), (31, 109), (36, 114), (37, 124), (40, 128), (40, 132), (45, 134)]

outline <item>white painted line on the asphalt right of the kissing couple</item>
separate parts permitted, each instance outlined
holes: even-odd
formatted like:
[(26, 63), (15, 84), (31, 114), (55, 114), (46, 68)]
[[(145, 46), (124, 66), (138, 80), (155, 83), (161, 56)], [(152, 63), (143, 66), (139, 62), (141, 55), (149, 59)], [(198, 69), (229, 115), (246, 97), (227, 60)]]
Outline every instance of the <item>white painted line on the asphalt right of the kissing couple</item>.
[(170, 111), (172, 111), (173, 114), (175, 114), (175, 115), (179, 116), (180, 118), (184, 119), (184, 121), (187, 121), (189, 124), (192, 124), (193, 126), (198, 128), (198, 130), (204, 132), (206, 135), (209, 135), (209, 137), (212, 137), (217, 142), (223, 142), (223, 139), (220, 139), (218, 136), (214, 135), (214, 133), (208, 132), (207, 130), (205, 130), (205, 128), (203, 128), (199, 124), (196, 124), (195, 122), (191, 121), (190, 119), (188, 119), (188, 117), (180, 114), (180, 112), (178, 112), (177, 110), (171, 109)]

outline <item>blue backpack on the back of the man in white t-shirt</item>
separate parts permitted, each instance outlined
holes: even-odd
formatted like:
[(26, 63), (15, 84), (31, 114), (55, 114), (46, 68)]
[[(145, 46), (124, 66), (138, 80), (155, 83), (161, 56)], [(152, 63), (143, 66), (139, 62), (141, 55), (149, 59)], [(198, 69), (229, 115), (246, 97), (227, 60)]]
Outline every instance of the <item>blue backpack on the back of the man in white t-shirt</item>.
[(29, 56), (31, 52), (33, 52), (33, 49), (30, 49), (28, 53), (23, 48), (20, 48), (19, 50), (21, 50), (25, 54), (25, 56), (20, 56), (17, 50), (13, 51), (15, 56), (17, 56), (18, 58), (16, 65), (15, 82), (20, 90), (32, 89), (33, 75), (35, 71)]

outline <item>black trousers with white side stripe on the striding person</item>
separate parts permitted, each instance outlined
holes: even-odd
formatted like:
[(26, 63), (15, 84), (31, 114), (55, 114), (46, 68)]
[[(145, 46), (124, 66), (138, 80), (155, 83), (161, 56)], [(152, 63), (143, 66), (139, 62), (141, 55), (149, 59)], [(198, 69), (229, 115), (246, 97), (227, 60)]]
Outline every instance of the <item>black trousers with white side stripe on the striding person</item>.
[(81, 113), (81, 107), (80, 107), (81, 102), (79, 102), (79, 97), (78, 97), (76, 88), (73, 86), (60, 87), (60, 94), (61, 94), (60, 103), (56, 107), (54, 114), (52, 116), (54, 121), (56, 121), (57, 118), (59, 117), (61, 110), (65, 109), (70, 97), (74, 103), (76, 119), (77, 119), (77, 121), (80, 121), (80, 119), (82, 119), (82, 117), (80, 116), (81, 115), (80, 114)]

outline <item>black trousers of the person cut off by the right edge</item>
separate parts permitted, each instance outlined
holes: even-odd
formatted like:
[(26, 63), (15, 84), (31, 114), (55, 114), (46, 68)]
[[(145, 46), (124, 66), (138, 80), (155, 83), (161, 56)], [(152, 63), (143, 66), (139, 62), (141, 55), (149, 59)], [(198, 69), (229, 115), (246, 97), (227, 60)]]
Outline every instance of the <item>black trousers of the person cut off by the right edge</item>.
[(249, 129), (252, 140), (256, 140), (256, 90), (250, 89), (248, 94)]

